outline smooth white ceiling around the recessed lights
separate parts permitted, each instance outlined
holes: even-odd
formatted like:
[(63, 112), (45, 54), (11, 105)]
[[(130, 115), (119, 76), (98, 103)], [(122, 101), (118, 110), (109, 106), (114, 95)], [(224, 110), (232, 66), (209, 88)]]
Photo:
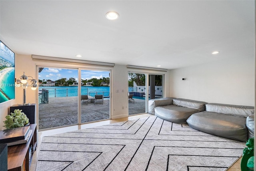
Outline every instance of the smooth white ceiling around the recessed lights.
[(254, 12), (254, 0), (1, 0), (0, 38), (17, 54), (174, 69), (254, 58)]

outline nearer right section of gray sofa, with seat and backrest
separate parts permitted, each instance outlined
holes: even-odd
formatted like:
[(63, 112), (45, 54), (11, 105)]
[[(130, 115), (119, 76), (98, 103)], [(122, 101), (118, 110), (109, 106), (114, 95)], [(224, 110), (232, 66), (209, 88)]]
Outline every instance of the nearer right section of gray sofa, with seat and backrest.
[[(252, 121), (253, 118), (253, 121)], [(254, 107), (242, 105), (228, 105), (219, 103), (206, 104), (206, 111), (195, 113), (187, 119), (187, 123), (193, 129), (234, 139), (238, 141), (248, 140), (254, 132)]]

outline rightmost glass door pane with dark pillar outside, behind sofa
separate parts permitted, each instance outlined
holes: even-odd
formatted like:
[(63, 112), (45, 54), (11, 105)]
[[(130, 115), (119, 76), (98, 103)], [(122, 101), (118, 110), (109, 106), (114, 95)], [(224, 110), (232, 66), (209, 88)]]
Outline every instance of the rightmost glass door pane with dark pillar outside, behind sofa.
[(163, 97), (163, 76), (149, 74), (149, 99)]

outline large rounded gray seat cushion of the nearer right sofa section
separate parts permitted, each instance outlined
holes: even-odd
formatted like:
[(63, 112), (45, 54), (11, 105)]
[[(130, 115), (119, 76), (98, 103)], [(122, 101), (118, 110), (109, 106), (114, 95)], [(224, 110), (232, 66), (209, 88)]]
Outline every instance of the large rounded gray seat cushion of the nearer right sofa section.
[(193, 129), (212, 135), (243, 142), (248, 140), (246, 117), (203, 111), (191, 115), (187, 123)]

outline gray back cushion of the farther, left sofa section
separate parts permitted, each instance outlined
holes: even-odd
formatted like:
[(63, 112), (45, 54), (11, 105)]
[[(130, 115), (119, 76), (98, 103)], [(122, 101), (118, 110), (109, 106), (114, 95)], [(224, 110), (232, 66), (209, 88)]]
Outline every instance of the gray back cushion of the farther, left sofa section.
[(172, 104), (192, 109), (198, 109), (199, 111), (205, 111), (205, 105), (207, 103), (204, 101), (176, 98), (172, 100)]

